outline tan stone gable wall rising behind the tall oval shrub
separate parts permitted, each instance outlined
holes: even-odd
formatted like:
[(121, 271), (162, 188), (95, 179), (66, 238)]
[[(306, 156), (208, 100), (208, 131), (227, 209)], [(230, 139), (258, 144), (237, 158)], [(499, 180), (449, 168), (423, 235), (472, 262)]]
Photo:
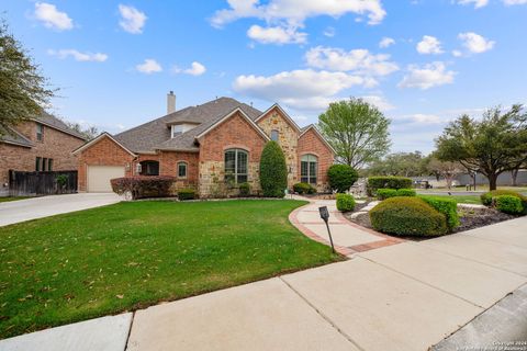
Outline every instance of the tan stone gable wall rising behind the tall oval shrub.
[(258, 120), (258, 126), (271, 136), (271, 131), (278, 131), (278, 144), (282, 148), (288, 165), (288, 186), (292, 188), (299, 182), (298, 165), (299, 165), (299, 129), (285, 118), (282, 112), (274, 107)]

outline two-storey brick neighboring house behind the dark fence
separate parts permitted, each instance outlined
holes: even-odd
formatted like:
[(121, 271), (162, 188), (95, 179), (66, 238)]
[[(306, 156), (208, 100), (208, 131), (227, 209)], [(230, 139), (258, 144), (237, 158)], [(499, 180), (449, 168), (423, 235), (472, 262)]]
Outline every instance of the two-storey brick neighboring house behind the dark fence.
[(86, 137), (63, 121), (43, 113), (2, 131), (0, 136), (0, 195), (9, 193), (9, 170), (76, 170), (77, 157), (71, 151), (86, 143)]

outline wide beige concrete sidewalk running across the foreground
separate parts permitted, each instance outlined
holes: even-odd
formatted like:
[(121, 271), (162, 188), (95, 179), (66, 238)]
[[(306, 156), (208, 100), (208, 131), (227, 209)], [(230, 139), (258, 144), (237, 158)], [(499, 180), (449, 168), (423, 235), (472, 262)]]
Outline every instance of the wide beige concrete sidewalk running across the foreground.
[[(134, 351), (427, 350), (525, 286), (526, 233), (523, 217), (355, 253), (345, 262), (138, 310), (130, 336), (113, 331), (121, 330), (119, 316), (111, 317), (115, 326), (81, 328), (102, 320), (94, 319), (67, 327), (71, 339), (110, 335), (112, 348), (101, 349), (109, 351), (125, 343)], [(0, 350), (24, 350), (13, 346), (32, 340), (40, 350), (74, 350), (56, 329), (0, 341)]]

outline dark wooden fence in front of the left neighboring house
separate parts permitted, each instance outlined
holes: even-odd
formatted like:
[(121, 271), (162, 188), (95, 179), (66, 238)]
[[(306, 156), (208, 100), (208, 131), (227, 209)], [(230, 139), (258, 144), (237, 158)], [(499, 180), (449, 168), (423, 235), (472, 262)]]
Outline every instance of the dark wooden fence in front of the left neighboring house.
[[(59, 176), (66, 182), (57, 182)], [(11, 196), (36, 196), (71, 194), (77, 192), (77, 171), (21, 172), (9, 170), (9, 194)]]

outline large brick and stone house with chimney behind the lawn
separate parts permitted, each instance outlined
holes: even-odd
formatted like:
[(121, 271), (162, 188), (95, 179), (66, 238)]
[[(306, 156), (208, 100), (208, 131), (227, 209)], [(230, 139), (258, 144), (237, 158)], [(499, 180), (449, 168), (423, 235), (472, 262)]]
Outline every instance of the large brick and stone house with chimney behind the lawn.
[(259, 162), (267, 141), (277, 140), (288, 165), (288, 184), (304, 181), (327, 189), (334, 151), (313, 125), (300, 128), (278, 105), (266, 112), (231, 98), (175, 111), (117, 135), (103, 133), (74, 151), (79, 156), (79, 191), (111, 191), (123, 176), (172, 176), (177, 188), (214, 196), (224, 184), (248, 182), (260, 190)]

